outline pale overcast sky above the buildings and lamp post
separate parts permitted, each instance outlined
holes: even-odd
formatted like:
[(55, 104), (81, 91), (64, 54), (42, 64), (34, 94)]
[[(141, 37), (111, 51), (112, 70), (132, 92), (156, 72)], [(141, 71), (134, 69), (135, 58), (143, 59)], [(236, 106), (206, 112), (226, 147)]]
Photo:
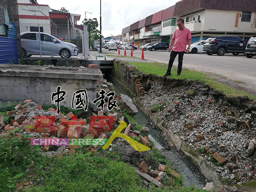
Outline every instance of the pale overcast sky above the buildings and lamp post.
[[(100, 0), (37, 0), (39, 4), (49, 5), (51, 9), (66, 7), (70, 13), (81, 15), (81, 21), (96, 17), (99, 22)], [(116, 36), (122, 29), (144, 19), (148, 15), (175, 5), (178, 0), (102, 0), (102, 35)]]

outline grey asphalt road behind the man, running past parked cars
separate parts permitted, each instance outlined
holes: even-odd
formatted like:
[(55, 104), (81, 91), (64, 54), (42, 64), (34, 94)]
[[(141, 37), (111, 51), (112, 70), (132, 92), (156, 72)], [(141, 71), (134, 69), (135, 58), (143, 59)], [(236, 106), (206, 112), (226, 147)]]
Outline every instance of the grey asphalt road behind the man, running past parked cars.
[[(108, 50), (105, 52), (117, 53), (116, 51)], [(121, 55), (123, 55), (124, 50), (120, 50), (120, 52)], [(141, 53), (141, 50), (135, 50), (133, 52), (134, 56), (138, 58), (141, 58)], [(130, 54), (131, 50), (127, 50), (127, 55)], [(152, 52), (147, 50), (144, 52), (144, 56), (145, 59), (149, 61), (157, 61), (168, 64), (170, 53), (160, 51)], [(175, 59), (174, 65), (177, 66), (177, 63), (178, 56)], [(237, 56), (232, 54), (218, 56), (216, 54), (207, 55), (205, 53), (190, 53), (184, 54), (183, 67), (198, 71), (210, 72), (219, 76), (225, 76), (226, 78), (222, 79), (220, 77), (219, 81), (230, 85), (230, 87), (246, 91), (247, 93), (256, 96), (256, 56), (253, 56), (253, 58), (247, 58), (244, 54), (239, 54)], [(215, 76), (215, 78), (216, 77), (217, 76)], [(242, 81), (244, 83), (238, 83), (235, 81), (232, 81), (232, 83), (225, 82), (229, 81), (230, 79)]]

